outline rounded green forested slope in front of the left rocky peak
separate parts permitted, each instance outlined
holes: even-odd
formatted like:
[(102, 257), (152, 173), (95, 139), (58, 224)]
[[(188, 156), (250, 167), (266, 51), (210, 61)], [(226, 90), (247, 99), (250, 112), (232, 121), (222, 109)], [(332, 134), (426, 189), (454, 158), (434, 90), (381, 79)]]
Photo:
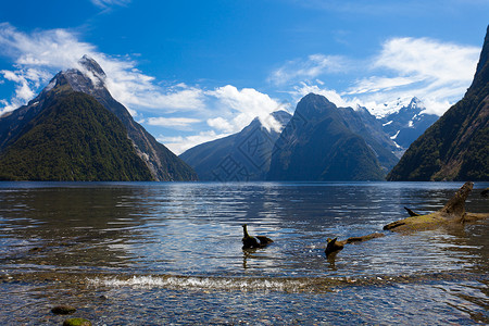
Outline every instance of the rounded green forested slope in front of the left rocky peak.
[(0, 179), (152, 179), (120, 120), (96, 99), (59, 90), (46, 103), (0, 153)]

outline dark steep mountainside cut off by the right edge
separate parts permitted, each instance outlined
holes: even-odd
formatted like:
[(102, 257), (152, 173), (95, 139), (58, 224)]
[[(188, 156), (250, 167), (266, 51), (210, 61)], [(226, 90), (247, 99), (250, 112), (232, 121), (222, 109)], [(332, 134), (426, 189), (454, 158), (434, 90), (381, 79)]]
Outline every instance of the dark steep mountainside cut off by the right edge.
[(464, 98), (415, 140), (388, 180), (489, 180), (489, 26)]

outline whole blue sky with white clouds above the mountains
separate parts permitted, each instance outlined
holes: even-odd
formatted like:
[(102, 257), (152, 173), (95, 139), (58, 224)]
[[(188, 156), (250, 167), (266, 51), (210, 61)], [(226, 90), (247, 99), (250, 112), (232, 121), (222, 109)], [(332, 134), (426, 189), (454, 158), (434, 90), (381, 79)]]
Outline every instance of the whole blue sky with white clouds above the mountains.
[(3, 1), (0, 112), (83, 54), (176, 153), (293, 112), (310, 91), (375, 114), (442, 114), (472, 82), (489, 0)]

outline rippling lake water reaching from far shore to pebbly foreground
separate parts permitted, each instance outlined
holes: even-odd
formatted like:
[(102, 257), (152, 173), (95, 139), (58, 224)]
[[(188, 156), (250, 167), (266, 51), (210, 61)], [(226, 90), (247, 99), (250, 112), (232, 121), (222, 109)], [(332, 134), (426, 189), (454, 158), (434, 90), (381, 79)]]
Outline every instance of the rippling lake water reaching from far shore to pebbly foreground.
[[(0, 183), (0, 324), (488, 324), (489, 222), (348, 244), (460, 183)], [(467, 211), (487, 212), (476, 184)], [(242, 228), (272, 246), (241, 249)]]

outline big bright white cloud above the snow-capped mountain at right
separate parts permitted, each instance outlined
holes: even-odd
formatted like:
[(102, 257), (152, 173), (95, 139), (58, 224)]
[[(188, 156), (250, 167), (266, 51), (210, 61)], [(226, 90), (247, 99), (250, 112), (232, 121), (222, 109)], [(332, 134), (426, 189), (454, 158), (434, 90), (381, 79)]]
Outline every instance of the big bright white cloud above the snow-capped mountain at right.
[(441, 115), (460, 100), (474, 78), (480, 49), (428, 38), (392, 38), (371, 64), (384, 76), (359, 79), (348, 96), (381, 110), (397, 98), (416, 96), (429, 113)]

